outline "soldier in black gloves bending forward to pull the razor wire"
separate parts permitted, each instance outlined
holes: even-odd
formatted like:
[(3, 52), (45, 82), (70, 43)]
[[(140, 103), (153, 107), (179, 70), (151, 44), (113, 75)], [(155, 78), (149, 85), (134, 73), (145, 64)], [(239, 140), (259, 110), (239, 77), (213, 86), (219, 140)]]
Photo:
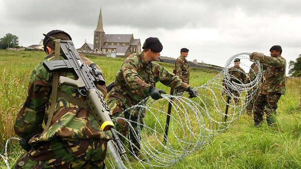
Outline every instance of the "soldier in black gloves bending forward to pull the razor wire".
[[(108, 99), (108, 106), (113, 120), (115, 117), (129, 119), (129, 112), (121, 113), (148, 96), (155, 100), (162, 98), (161, 93), (166, 92), (155, 88), (158, 81), (171, 88), (187, 91), (190, 97), (195, 97), (197, 94), (192, 87), (184, 83), (178, 76), (169, 73), (163, 66), (153, 62), (158, 59), (163, 49), (158, 38), (147, 38), (142, 48), (143, 52), (129, 56), (117, 72), (115, 84), (112, 91), (109, 92)], [(142, 113), (142, 116), (144, 114), (145, 112)], [(137, 118), (138, 111), (134, 110), (134, 113), (131, 114), (131, 121), (137, 122)], [(143, 123), (143, 119), (144, 117), (141, 117), (137, 123)], [(137, 123), (131, 123), (135, 131), (137, 131)], [(139, 155), (140, 144), (135, 138), (137, 136), (131, 131), (129, 133), (128, 125), (124, 120), (118, 119), (116, 129), (124, 137), (130, 134), (131, 142), (135, 145), (132, 146), (132, 154)]]

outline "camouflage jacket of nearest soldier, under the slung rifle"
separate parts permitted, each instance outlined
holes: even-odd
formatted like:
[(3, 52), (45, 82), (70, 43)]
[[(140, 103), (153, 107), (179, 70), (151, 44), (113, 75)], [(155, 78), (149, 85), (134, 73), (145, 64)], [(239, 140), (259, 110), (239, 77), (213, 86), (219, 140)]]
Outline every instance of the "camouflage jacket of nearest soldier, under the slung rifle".
[[(85, 64), (92, 63), (84, 56), (81, 57)], [(62, 60), (63, 57), (60, 57), (60, 59)], [(48, 55), (33, 70), (29, 79), (25, 103), (18, 112), (14, 124), (16, 134), (21, 138), (32, 138), (34, 136), (31, 142), (47, 141), (55, 137), (71, 140), (87, 138), (109, 139), (110, 136), (100, 130), (100, 125), (91, 113), (59, 96), (57, 97), (50, 127), (42, 134), (43, 120), (47, 123), (50, 113), (52, 90), (52, 73), (48, 73), (42, 64), (53, 60), (54, 55)], [(73, 72), (60, 71), (59, 76), (77, 79)], [(100, 93), (102, 92), (106, 95), (105, 86), (98, 85), (98, 89)], [(86, 99), (72, 86), (61, 85), (58, 87), (58, 90), (81, 101)]]

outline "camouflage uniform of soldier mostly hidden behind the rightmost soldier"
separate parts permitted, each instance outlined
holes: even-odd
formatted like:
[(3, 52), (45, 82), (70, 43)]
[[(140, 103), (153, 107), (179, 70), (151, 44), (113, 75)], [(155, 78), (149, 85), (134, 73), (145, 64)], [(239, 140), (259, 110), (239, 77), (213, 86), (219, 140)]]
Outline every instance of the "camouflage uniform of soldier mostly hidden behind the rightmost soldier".
[[(262, 69), (261, 69), (262, 70)], [(253, 81), (256, 78), (256, 73), (258, 73), (258, 66), (256, 63), (253, 63), (251, 65), (251, 69), (249, 70), (249, 78), (247, 78), (246, 83), (250, 83), (251, 81)], [(254, 101), (259, 93), (259, 89), (260, 89), (260, 85), (262, 82), (260, 82), (258, 84), (259, 88), (257, 89), (257, 91), (254, 93), (253, 97), (251, 98), (251, 101), (249, 102), (249, 104), (247, 105), (246, 109), (247, 109), (247, 114), (251, 115), (252, 111), (253, 111), (253, 106), (254, 106)], [(254, 86), (253, 90), (256, 90), (256, 86)], [(246, 96), (246, 102), (248, 102), (249, 97), (251, 96), (252, 91), (248, 92), (248, 95)]]

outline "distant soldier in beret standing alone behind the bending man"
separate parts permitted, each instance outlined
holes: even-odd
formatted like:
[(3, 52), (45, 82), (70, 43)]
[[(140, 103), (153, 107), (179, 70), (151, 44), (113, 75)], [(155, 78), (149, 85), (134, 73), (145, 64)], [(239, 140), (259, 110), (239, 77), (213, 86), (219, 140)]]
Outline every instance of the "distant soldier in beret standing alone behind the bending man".
[[(190, 77), (190, 67), (188, 61), (186, 60), (188, 51), (189, 50), (187, 48), (182, 48), (180, 51), (181, 56), (175, 62), (176, 75), (180, 77), (180, 79), (182, 79), (183, 82), (187, 84), (189, 84), (189, 77)], [(177, 92), (184, 92), (184, 91), (176, 90), (176, 93)]]

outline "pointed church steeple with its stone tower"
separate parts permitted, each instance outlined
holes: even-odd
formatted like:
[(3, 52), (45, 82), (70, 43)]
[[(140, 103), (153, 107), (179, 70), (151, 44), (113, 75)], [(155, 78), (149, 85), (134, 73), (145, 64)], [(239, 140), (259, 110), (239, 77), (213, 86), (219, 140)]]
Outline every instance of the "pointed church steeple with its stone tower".
[(100, 52), (101, 51), (101, 46), (103, 45), (104, 42), (104, 31), (102, 27), (102, 15), (101, 15), (101, 8), (100, 8), (100, 15), (98, 17), (98, 24), (97, 27), (94, 31), (94, 44), (93, 48), (95, 52)]

